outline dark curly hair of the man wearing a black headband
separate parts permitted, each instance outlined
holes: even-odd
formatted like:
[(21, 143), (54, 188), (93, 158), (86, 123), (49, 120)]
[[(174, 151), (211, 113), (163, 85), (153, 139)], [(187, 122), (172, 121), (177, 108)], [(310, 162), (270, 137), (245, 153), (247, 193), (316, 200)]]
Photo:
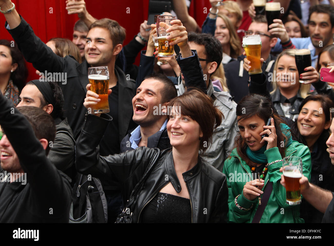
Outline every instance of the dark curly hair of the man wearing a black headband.
[[(56, 119), (56, 118), (61, 118), (62, 114), (63, 114), (63, 106), (64, 106), (64, 96), (62, 94), (61, 88), (59, 87), (59, 85), (57, 84), (57, 82), (54, 81), (48, 81), (45, 83), (49, 83), (52, 93), (53, 93), (53, 98), (55, 101), (55, 104), (52, 104), (53, 106), (53, 110), (50, 113), (50, 115)], [(29, 81), (27, 83), (27, 85), (34, 85), (35, 84), (31, 81)], [(41, 105), (40, 108), (43, 108), (44, 106), (50, 104), (48, 101), (46, 101), (45, 97), (42, 95), (40, 98), (41, 101)]]

